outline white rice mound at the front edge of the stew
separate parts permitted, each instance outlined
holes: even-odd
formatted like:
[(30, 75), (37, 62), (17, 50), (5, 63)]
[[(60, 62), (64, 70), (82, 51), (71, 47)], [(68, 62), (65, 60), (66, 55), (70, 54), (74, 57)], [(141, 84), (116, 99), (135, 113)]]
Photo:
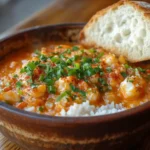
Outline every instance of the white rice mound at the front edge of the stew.
[(102, 105), (101, 107), (95, 107), (89, 104), (89, 101), (83, 102), (82, 104), (73, 104), (70, 106), (68, 111), (62, 109), (60, 112), (61, 116), (98, 116), (98, 115), (105, 115), (111, 114), (126, 110), (123, 105), (115, 104), (114, 102)]

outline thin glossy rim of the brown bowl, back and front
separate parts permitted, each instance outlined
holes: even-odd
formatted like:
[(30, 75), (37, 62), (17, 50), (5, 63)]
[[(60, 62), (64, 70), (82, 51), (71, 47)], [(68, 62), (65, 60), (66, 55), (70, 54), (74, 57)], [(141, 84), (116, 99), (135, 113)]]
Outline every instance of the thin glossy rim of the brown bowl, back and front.
[[(16, 33), (13, 33), (11, 35), (7, 35), (6, 37), (0, 39), (0, 44), (6, 40), (9, 40), (11, 38), (14, 38), (15, 36), (24, 34), (26, 32), (32, 32), (38, 30), (43, 30), (46, 28), (66, 28), (68, 27), (83, 27), (85, 23), (64, 23), (64, 24), (54, 24), (54, 25), (44, 25), (44, 26), (35, 26), (31, 28), (27, 28), (21, 31), (18, 31)], [(131, 108), (129, 110), (112, 113), (112, 114), (106, 114), (106, 115), (99, 115), (99, 116), (79, 116), (79, 117), (69, 117), (69, 116), (48, 116), (43, 114), (37, 114), (32, 112), (27, 112), (18, 108), (15, 108), (13, 106), (10, 106), (6, 104), (5, 102), (0, 102), (0, 109), (4, 109), (10, 113), (13, 113), (15, 115), (20, 115), (26, 118), (30, 119), (36, 119), (36, 120), (43, 120), (48, 121), (51, 123), (62, 123), (62, 124), (93, 124), (93, 123), (106, 123), (114, 120), (120, 120), (123, 118), (127, 118), (129, 116), (136, 116), (137, 114), (140, 114), (142, 112), (150, 111), (150, 102), (146, 102), (142, 105), (139, 105), (137, 107)]]

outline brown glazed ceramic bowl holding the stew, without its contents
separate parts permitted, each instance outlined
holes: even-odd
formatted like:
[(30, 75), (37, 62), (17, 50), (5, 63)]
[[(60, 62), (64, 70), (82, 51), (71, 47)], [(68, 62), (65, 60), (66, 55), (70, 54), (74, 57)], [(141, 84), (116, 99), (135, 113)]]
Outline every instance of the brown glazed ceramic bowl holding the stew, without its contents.
[[(83, 24), (35, 27), (0, 41), (1, 59), (10, 51), (50, 42), (78, 42)], [(144, 88), (144, 87), (143, 87)], [(94, 117), (51, 117), (0, 102), (0, 131), (26, 150), (150, 150), (150, 102)]]

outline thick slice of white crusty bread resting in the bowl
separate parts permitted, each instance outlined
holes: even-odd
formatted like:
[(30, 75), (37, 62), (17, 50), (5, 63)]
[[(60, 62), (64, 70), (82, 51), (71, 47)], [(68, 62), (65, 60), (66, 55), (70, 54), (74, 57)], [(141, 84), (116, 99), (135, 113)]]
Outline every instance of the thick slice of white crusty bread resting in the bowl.
[(97, 12), (81, 31), (80, 42), (130, 62), (150, 60), (150, 4), (119, 1)]

